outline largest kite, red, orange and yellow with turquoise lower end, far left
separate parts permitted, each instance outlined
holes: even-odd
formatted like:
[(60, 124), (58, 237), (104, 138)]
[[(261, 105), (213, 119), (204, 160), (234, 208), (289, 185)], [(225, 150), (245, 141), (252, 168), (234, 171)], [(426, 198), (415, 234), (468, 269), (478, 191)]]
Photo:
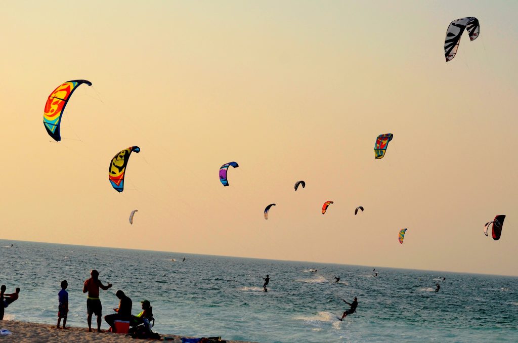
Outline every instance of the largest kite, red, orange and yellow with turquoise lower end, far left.
[(72, 96), (72, 93), (74, 93), (76, 88), (83, 83), (86, 83), (89, 86), (92, 85), (92, 82), (88, 80), (66, 81), (52, 91), (47, 98), (47, 103), (45, 103), (45, 110), (43, 112), (43, 124), (45, 125), (49, 136), (55, 141), (59, 142), (61, 140), (60, 124), (63, 112), (65, 111), (65, 106), (68, 103), (70, 96)]

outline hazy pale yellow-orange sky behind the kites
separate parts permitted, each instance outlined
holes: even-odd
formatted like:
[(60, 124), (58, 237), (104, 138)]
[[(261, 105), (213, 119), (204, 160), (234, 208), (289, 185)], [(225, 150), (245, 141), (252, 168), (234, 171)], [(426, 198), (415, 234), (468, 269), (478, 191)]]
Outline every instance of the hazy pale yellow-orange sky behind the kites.
[[(518, 275), (517, 9), (6, 3), (1, 236)], [(480, 37), (463, 36), (446, 63), (448, 24), (467, 16)], [(56, 143), (44, 105), (74, 79), (93, 87), (71, 97)], [(382, 133), (394, 139), (375, 160)], [(134, 145), (119, 194), (108, 166)], [(229, 161), (239, 168), (223, 187)], [(295, 193), (297, 180), (307, 186)], [(500, 214), (493, 241), (483, 225)]]

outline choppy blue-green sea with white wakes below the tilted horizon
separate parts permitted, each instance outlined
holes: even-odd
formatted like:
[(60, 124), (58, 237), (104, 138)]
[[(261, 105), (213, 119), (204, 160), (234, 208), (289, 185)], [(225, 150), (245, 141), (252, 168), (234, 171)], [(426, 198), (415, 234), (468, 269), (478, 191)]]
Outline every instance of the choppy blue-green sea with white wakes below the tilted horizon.
[[(66, 279), (67, 324), (86, 327), (82, 287), (95, 268), (104, 284), (113, 283), (100, 294), (103, 316), (118, 306), (120, 289), (132, 298), (134, 313), (140, 300), (151, 302), (154, 331), (161, 334), (256, 342), (518, 340), (516, 277), (390, 268), (376, 268), (373, 277), (365, 266), (6, 240), (0, 240), (0, 258), (0, 283), (8, 293), (21, 288), (6, 308), (8, 320), (55, 324)], [(268, 292), (262, 290), (266, 274)], [(357, 311), (340, 322), (337, 316), (349, 308), (340, 298), (354, 296)], [(102, 327), (108, 328), (104, 320)]]

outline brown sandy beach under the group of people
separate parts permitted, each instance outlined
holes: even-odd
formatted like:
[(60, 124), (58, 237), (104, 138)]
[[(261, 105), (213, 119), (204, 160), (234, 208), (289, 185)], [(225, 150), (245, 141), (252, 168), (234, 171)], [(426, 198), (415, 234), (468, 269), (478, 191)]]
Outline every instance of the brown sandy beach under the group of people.
[[(57, 318), (56, 318), (57, 320)], [(88, 332), (87, 327), (67, 326), (67, 330), (57, 329), (53, 324), (41, 324), (31, 322), (20, 322), (14, 320), (0, 321), (0, 329), (9, 330), (12, 334), (8, 336), (0, 336), (2, 342), (20, 342), (20, 343), (34, 343), (34, 342), (63, 342), (63, 343), (77, 343), (77, 342), (103, 342), (103, 343), (119, 343), (119, 342), (138, 342), (138, 341), (159, 341), (152, 339), (134, 339), (131, 336), (124, 334), (117, 334), (111, 332)], [(162, 335), (161, 339), (167, 337), (167, 341), (172, 343), (181, 343), (179, 335)], [(224, 338), (221, 338), (224, 340)], [(226, 340), (227, 343), (254, 343), (240, 340)]]

